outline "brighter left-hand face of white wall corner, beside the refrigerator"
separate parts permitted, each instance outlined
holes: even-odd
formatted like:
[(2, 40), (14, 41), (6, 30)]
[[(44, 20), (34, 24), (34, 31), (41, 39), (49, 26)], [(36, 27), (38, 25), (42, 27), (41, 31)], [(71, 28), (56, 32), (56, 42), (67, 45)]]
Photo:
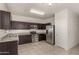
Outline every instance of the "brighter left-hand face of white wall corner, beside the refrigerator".
[(67, 10), (55, 14), (55, 43), (56, 46), (67, 48)]

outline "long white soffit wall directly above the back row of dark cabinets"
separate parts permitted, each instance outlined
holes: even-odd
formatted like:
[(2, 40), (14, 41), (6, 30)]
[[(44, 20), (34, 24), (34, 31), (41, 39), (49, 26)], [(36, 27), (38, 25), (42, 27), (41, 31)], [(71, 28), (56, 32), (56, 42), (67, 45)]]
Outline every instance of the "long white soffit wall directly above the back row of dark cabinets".
[(43, 19), (37, 19), (37, 18), (25, 17), (25, 16), (12, 14), (12, 21), (34, 22), (34, 23), (48, 23), (52, 21), (53, 23), (53, 18), (43, 20)]

